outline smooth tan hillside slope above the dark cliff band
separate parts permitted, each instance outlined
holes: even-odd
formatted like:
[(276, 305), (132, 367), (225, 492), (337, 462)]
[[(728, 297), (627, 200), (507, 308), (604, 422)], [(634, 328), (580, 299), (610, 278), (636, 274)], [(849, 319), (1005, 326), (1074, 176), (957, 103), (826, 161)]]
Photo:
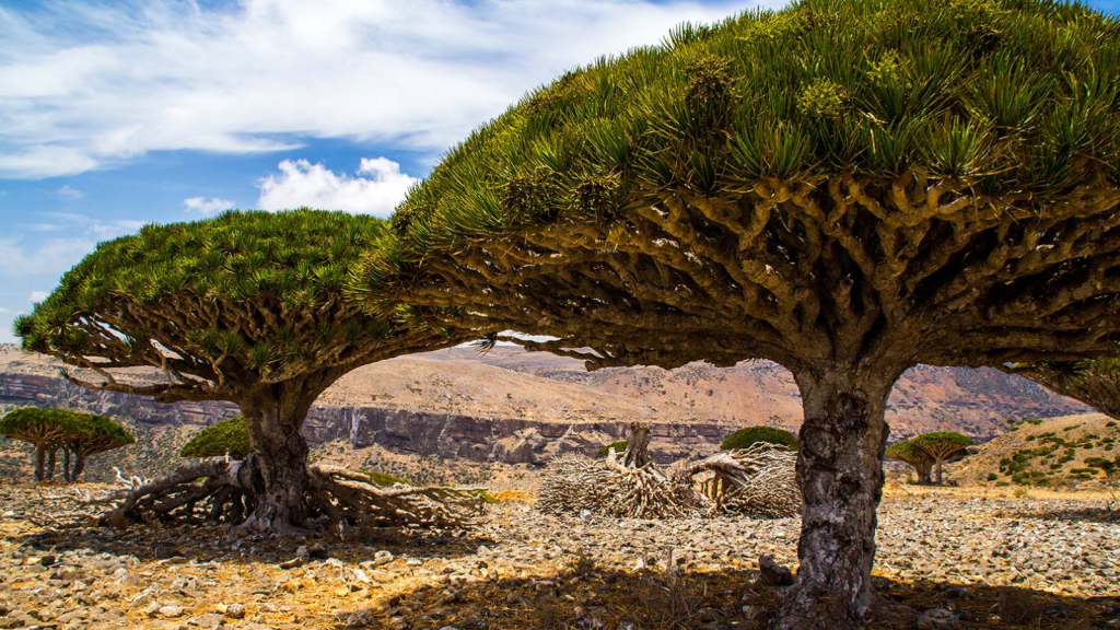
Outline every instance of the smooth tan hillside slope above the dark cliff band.
[[(16, 346), (0, 346), (0, 374), (57, 376), (57, 368)], [(791, 374), (773, 363), (587, 372), (579, 361), (510, 346), (485, 355), (457, 348), (367, 365), (327, 390), (319, 404), (559, 424), (636, 419), (654, 425), (767, 424), (796, 430), (801, 423), (797, 388)], [(899, 379), (887, 418), (894, 438), (951, 428), (987, 441), (1007, 430), (1008, 418), (1088, 410), (996, 370), (923, 365)]]

